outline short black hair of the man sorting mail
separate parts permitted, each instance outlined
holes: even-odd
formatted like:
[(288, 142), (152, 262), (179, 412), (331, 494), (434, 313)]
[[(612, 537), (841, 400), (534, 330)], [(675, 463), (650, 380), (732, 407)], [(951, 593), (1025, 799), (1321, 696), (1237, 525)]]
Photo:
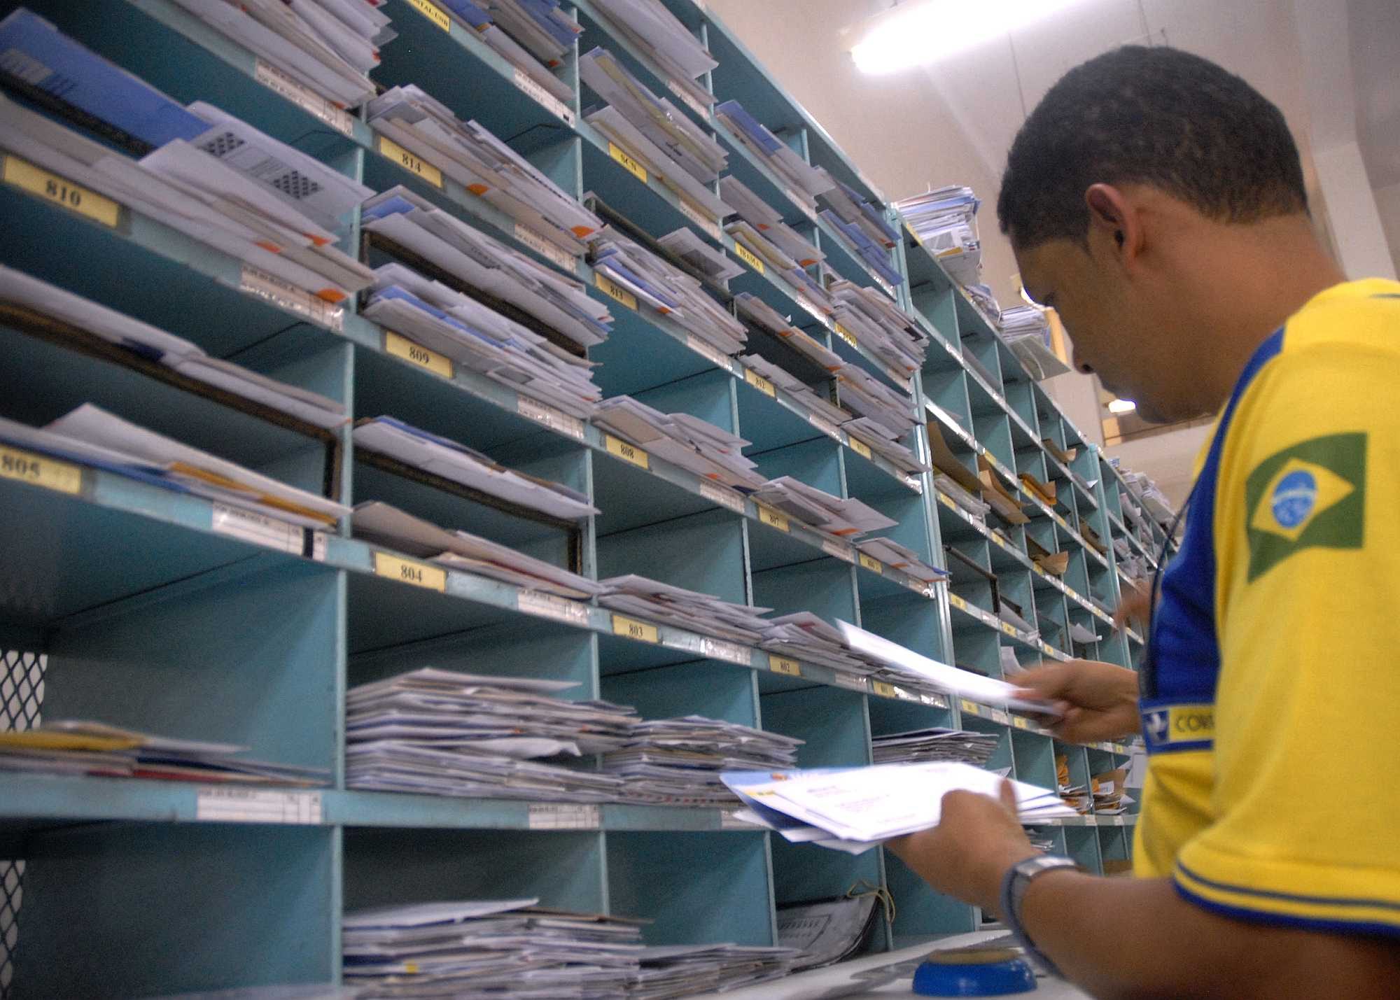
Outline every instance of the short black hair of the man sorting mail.
[(1018, 248), (1088, 239), (1084, 192), (1147, 183), (1219, 221), (1308, 210), (1284, 115), (1215, 63), (1126, 45), (1065, 73), (1021, 126), (997, 216)]

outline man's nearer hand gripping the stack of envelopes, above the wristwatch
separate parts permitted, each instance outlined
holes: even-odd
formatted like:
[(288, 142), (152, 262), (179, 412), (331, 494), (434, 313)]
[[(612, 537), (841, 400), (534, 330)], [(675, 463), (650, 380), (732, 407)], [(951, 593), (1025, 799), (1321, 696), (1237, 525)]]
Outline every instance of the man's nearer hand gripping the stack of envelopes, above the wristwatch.
[(1040, 853), (1021, 828), (1009, 782), (1002, 782), (1000, 798), (949, 791), (937, 826), (885, 846), (937, 891), (991, 913), (1000, 912), (1007, 870)]

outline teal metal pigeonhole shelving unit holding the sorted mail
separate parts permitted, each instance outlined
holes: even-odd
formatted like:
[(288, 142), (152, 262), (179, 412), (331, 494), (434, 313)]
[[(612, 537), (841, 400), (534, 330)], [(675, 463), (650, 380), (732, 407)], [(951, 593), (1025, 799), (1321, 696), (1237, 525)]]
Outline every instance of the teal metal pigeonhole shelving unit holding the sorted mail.
[[(883, 203), (832, 139), (703, 4), (665, 0), (720, 62), (707, 85), (739, 99), (811, 162)], [(381, 85), (421, 85), (475, 118), (556, 183), (595, 196), (652, 237), (693, 225), (654, 178), (643, 182), (573, 106), (540, 104), (472, 31), (442, 31), (424, 4), (389, 0), (399, 38)], [(925, 585), (844, 542), (771, 518), (732, 490), (654, 457), (609, 448), (608, 436), (469, 371), (449, 377), (393, 349), (351, 308), (332, 312), (277, 294), (239, 262), (123, 206), (95, 224), (0, 185), (8, 224), (3, 262), (199, 343), (218, 357), (342, 401), (354, 417), (389, 413), (525, 472), (587, 492), (602, 514), (577, 538), (489, 510), (461, 492), (395, 475), (357, 457), (349, 427), (314, 433), (94, 347), (81, 331), (36, 333), (0, 315), (0, 416), (41, 424), (80, 402), (343, 503), (386, 500), (440, 524), (489, 534), (585, 574), (643, 573), (728, 601), (844, 618), (945, 662), (1001, 676), (1001, 648), (1021, 662), (1085, 655), (1133, 665), (1141, 639), (1113, 634), (1120, 571), (1113, 541), (1155, 557), (1162, 528), (1123, 520), (1117, 471), (1021, 368), (993, 325), (907, 232), (892, 251), (899, 287), (861, 262), (825, 223), (729, 139), (708, 109), (682, 106), (731, 148), (729, 168), (858, 284), (885, 287), (931, 336), (910, 378), (890, 373), (829, 319), (808, 315), (771, 275), (748, 291), (794, 317), (844, 360), (911, 392), (972, 468), (981, 457), (1032, 513), (994, 531), (935, 487), (746, 377), (645, 307), (608, 297), (587, 262), (542, 255), (538, 241), (470, 192), (403, 168), (353, 115), (326, 112), (262, 83), (258, 60), (172, 0), (28, 4), (60, 29), (178, 101), (206, 99), (311, 153), (375, 190), (405, 183), (465, 221), (566, 268), (615, 314), (594, 349), (605, 395), (631, 394), (742, 434), (766, 475), (792, 475), (853, 496), (899, 522), (890, 534), (935, 566), (953, 543), (1026, 611), (1032, 634), (998, 622), (976, 578)], [(3, 7), (7, 13), (13, 4)], [(657, 92), (665, 74), (591, 0), (581, 45), (605, 45)], [(559, 70), (578, 91), (577, 52)], [(3, 137), (0, 137), (3, 146)], [(890, 214), (890, 220), (895, 216)], [(358, 220), (344, 232), (360, 246)], [(741, 258), (742, 259), (742, 258)], [(1047, 448), (1050, 441), (1054, 448)], [(906, 444), (927, 458), (921, 431)], [(1074, 450), (1068, 464), (1060, 455)], [(1022, 487), (1057, 487), (1046, 504)], [(1109, 483), (1110, 487), (1105, 489)], [(59, 489), (53, 489), (59, 486)], [(6, 559), (0, 601), (0, 727), (94, 717), (141, 730), (246, 744), (263, 759), (330, 769), (315, 791), (227, 793), (172, 782), (0, 775), (0, 993), (143, 996), (287, 980), (335, 980), (346, 908), (455, 896), (539, 895), (546, 905), (648, 917), (650, 943), (774, 940), (774, 908), (840, 895), (861, 880), (897, 903), (875, 947), (974, 930), (980, 915), (924, 887), (892, 856), (794, 846), (718, 810), (550, 805), (365, 793), (344, 787), (344, 692), (433, 664), (578, 681), (577, 697), (636, 704), (648, 717), (707, 714), (808, 742), (804, 766), (869, 762), (871, 734), (966, 725), (1001, 737), (997, 766), (1039, 784), (1123, 763), (1124, 744), (1065, 746), (995, 706), (851, 686), (820, 665), (673, 627), (640, 637), (608, 611), (566, 608), (462, 571), (430, 587), (385, 578), (375, 546), (339, 534), (288, 532), (276, 545), (228, 534), (216, 506), (99, 469), (64, 483), (0, 478)], [(1089, 534), (1102, 539), (1102, 550)], [(1028, 539), (1067, 552), (1063, 576), (1040, 570)], [(441, 585), (435, 585), (441, 580)], [(1082, 625), (1103, 639), (1071, 643)], [(1091, 870), (1126, 859), (1135, 817), (1047, 825)]]

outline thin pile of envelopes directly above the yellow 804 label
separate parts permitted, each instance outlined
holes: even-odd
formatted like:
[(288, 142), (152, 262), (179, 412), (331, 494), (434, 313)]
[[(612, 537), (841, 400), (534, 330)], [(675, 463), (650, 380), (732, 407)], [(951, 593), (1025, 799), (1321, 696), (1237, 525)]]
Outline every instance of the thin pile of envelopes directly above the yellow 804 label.
[[(588, 577), (466, 531), (447, 531), (386, 503), (358, 504), (350, 527), (356, 538), (372, 545), (384, 545), (455, 570), (524, 587), (532, 592), (571, 601), (582, 601), (602, 592), (602, 587)], [(580, 618), (587, 619), (587, 613), (584, 605), (577, 605)]]

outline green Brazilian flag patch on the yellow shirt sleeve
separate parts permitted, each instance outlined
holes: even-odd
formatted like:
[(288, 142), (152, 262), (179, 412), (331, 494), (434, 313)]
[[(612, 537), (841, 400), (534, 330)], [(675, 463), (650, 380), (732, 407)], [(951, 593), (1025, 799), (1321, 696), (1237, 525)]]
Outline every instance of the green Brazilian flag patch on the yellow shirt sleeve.
[(1245, 482), (1245, 510), (1250, 581), (1301, 549), (1359, 549), (1365, 433), (1315, 437), (1270, 455)]

